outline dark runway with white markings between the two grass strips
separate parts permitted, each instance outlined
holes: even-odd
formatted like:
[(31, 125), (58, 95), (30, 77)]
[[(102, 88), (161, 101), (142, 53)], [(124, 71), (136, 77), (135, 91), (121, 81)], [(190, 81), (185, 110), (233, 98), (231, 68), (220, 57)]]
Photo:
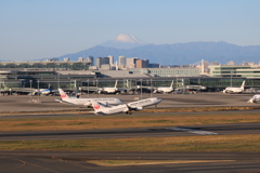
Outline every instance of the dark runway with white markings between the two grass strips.
[(209, 125), (64, 130), (64, 131), (24, 131), (0, 132), (0, 141), (35, 139), (86, 139), (86, 138), (128, 138), (128, 137), (168, 137), (192, 135), (260, 134), (260, 122), (229, 123)]

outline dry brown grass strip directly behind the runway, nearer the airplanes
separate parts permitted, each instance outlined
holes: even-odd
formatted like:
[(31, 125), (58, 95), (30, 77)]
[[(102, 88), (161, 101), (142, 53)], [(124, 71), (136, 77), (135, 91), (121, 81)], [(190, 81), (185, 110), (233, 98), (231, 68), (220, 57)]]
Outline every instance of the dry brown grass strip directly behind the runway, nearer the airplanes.
[(1, 119), (1, 131), (86, 130), (260, 122), (258, 112)]

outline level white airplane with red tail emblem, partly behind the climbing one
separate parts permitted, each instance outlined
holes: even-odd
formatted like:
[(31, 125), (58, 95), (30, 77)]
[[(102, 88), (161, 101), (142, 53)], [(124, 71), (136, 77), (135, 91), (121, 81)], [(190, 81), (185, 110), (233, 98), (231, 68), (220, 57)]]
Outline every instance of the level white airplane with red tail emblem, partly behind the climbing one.
[(61, 99), (55, 99), (55, 101), (57, 101), (60, 103), (65, 103), (65, 104), (90, 107), (90, 106), (92, 106), (92, 104), (90, 102), (91, 99), (94, 99), (95, 102), (99, 102), (104, 106), (122, 104), (121, 99), (114, 98), (114, 97), (77, 98), (77, 97), (69, 97), (62, 89), (58, 89), (58, 92), (60, 92), (60, 95), (61, 95)]

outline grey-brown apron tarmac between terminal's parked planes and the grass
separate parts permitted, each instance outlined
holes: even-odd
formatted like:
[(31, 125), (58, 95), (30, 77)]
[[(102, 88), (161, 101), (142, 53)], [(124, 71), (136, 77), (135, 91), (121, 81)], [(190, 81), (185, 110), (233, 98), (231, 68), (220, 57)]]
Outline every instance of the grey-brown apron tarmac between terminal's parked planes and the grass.
[[(197, 94), (150, 94), (142, 95), (99, 95), (90, 94), (90, 97), (118, 97), (123, 103), (134, 102), (148, 97), (159, 97), (162, 102), (157, 108), (173, 107), (260, 107), (260, 104), (247, 103), (253, 94), (223, 94), (223, 93), (197, 93)], [(88, 95), (81, 97), (87, 98)], [(81, 110), (86, 107), (61, 104), (55, 99), (60, 96), (30, 96), (30, 95), (5, 95), (0, 96), (0, 114), (3, 112), (36, 112), (36, 111), (66, 111)], [(150, 108), (154, 108), (151, 106)]]

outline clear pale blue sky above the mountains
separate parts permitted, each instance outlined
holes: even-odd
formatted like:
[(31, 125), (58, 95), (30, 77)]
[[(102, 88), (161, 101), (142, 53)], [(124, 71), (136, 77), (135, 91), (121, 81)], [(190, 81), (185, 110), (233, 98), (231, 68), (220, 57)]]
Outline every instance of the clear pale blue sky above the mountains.
[(0, 0), (0, 61), (57, 57), (119, 34), (260, 45), (260, 0)]

